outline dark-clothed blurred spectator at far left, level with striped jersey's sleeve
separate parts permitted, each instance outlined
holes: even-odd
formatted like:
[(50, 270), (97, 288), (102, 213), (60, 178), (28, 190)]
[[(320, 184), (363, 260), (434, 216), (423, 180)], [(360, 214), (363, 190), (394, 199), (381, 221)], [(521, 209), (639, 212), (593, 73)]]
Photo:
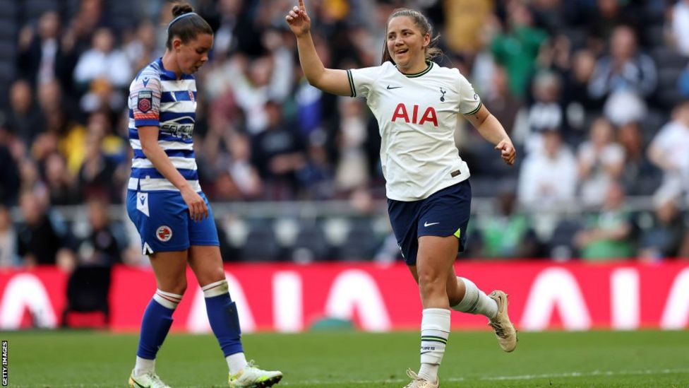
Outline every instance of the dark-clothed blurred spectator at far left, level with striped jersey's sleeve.
[(16, 134), (26, 144), (44, 130), (44, 117), (34, 103), (33, 93), (28, 81), (18, 80), (10, 88), (10, 112), (6, 129)]

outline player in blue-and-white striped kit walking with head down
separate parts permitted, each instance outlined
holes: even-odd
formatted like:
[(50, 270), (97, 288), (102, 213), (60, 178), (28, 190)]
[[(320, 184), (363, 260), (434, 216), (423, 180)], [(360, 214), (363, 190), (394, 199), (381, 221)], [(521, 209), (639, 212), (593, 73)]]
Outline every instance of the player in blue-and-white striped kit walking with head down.
[(141, 70), (129, 88), (129, 142), (134, 157), (127, 212), (157, 283), (143, 314), (129, 387), (169, 387), (155, 373), (155, 356), (186, 290), (187, 264), (203, 289), (210, 327), (227, 360), (230, 387), (270, 387), (282, 379), (282, 373), (246, 362), (212, 211), (198, 184), (192, 74), (208, 61), (213, 32), (188, 4), (176, 4), (172, 14), (164, 55)]

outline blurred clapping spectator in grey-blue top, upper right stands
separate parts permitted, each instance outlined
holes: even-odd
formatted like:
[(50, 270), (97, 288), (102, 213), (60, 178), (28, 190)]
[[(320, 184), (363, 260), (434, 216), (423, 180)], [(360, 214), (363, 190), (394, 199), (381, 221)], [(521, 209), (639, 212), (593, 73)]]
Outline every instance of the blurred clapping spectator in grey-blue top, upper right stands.
[(589, 83), (592, 98), (604, 98), (604, 112), (613, 124), (638, 121), (645, 114), (645, 99), (658, 83), (656, 65), (638, 52), (634, 30), (621, 25), (610, 38), (608, 54), (599, 59)]

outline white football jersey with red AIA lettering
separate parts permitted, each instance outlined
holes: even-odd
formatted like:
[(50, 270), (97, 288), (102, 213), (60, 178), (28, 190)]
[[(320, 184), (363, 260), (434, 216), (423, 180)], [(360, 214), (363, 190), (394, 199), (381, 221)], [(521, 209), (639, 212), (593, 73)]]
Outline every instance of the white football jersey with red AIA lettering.
[(381, 165), (389, 199), (418, 201), (469, 178), (455, 146), (459, 114), (474, 114), (479, 96), (457, 69), (429, 61), (418, 74), (381, 66), (347, 70), (352, 97), (364, 97), (381, 131)]

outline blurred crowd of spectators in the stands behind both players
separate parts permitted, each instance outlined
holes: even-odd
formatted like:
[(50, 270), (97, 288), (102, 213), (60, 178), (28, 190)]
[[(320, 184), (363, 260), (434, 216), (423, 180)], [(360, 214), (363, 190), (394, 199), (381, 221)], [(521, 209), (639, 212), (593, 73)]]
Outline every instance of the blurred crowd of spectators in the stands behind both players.
[[(365, 103), (321, 93), (301, 74), (284, 22), (296, 1), (188, 2), (215, 30), (197, 76), (194, 131), (210, 201), (351, 199), (365, 208), (383, 199), (378, 127)], [(388, 15), (419, 9), (441, 34), (437, 61), (460, 69), (513, 137), (519, 156), (507, 167), (457, 124), (474, 196), (495, 201), (472, 218), (465, 257), (689, 257), (689, 0), (306, 6), (320, 58), (337, 69), (380, 64)], [(131, 167), (128, 86), (162, 55), (171, 4), (40, 0), (6, 9), (0, 45), (13, 81), (0, 99), (0, 266), (138, 262), (126, 216), (109, 221), (107, 209), (122, 204)], [(638, 196), (651, 208), (626, 206)], [(67, 205), (82, 205), (88, 222), (61, 219), (55, 208)], [(292, 237), (275, 220), (246, 221), (243, 236), (224, 228), (236, 223), (219, 224), (224, 258), (397, 258), (377, 218), (338, 221), (292, 225)]]

